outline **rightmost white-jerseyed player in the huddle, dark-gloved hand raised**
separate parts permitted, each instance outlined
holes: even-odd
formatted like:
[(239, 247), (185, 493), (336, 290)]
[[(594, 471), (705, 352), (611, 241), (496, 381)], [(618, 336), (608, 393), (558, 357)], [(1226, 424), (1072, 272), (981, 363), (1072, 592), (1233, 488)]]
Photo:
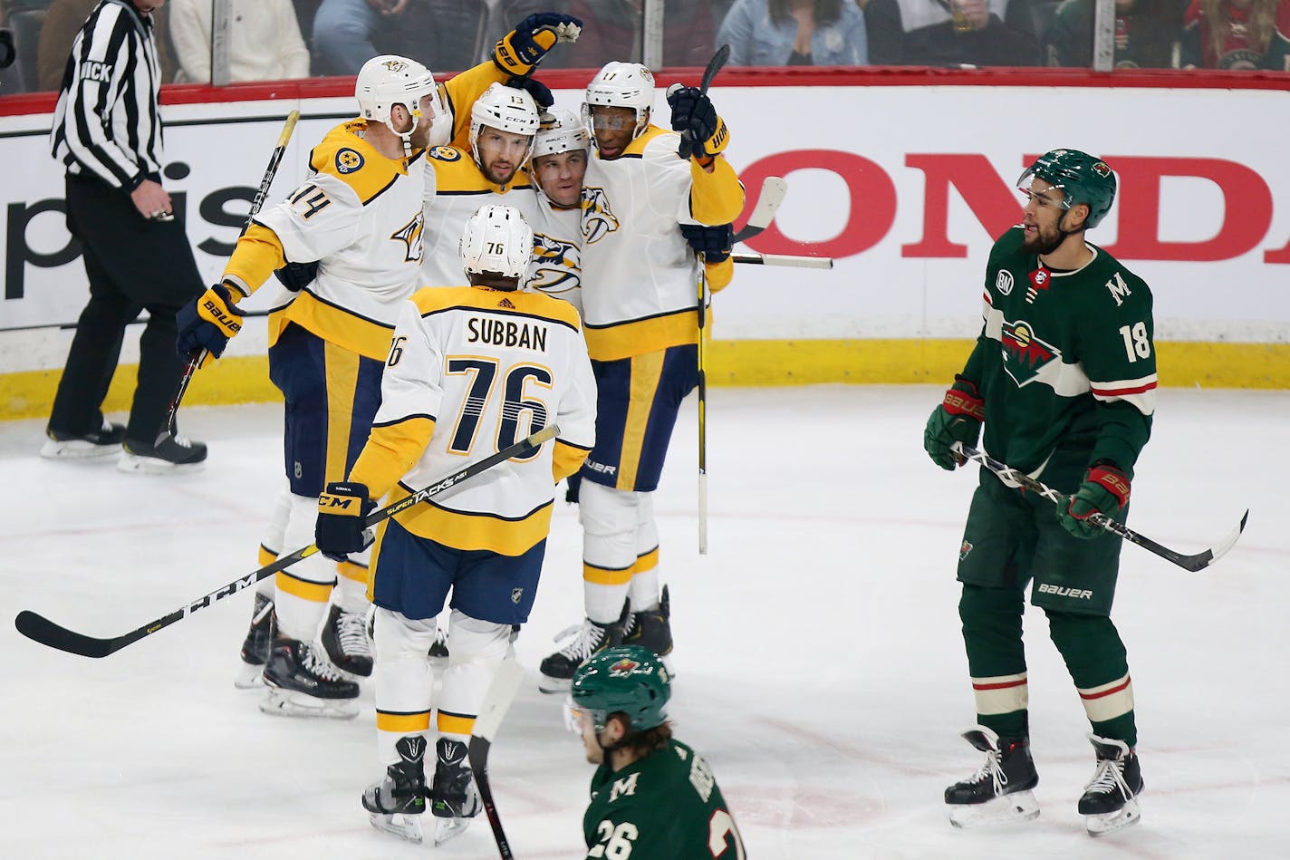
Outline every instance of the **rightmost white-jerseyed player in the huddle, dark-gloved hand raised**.
[[(682, 222), (725, 225), (743, 186), (721, 154), (725, 121), (695, 88), (673, 88), (672, 132), (650, 124), (654, 76), (608, 63), (587, 87), (583, 118), (595, 145), (582, 200), (582, 306), (599, 389), (596, 448), (582, 469), (586, 619), (542, 661), (543, 692), (569, 688), (574, 670), (615, 638), (630, 598), (627, 642), (672, 650), (659, 590), (651, 493), (682, 398), (698, 384), (698, 262)], [(684, 130), (693, 156), (677, 154)], [(726, 261), (711, 272), (729, 282)]]

